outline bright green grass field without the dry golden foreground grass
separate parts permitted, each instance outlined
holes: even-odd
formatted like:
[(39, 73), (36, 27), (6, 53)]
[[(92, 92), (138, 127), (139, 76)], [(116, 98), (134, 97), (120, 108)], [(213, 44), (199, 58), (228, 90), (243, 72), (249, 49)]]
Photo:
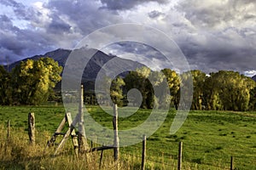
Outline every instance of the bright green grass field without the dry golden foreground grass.
[[(90, 115), (94, 117), (96, 122), (105, 127), (112, 127), (112, 116), (104, 113), (97, 106), (88, 108)], [(28, 112), (35, 113), (38, 131), (37, 147), (43, 148), (43, 150), (50, 135), (54, 133), (65, 115), (62, 106), (0, 106), (0, 124), (2, 124), (1, 132), (3, 133), (0, 139), (1, 149), (3, 149), (3, 142), (6, 139), (6, 133), (4, 133), (6, 129), (3, 126), (6, 126), (8, 120), (11, 121), (12, 128), (15, 129), (11, 133), (11, 137), (16, 139), (16, 144), (23, 141), (22, 144), (25, 143), (26, 145), (28, 139), (26, 138)], [(119, 118), (119, 129), (136, 127), (147, 119), (149, 114), (150, 110), (139, 110), (132, 116)], [(183, 127), (176, 134), (171, 135), (169, 131), (174, 116), (175, 111), (169, 111), (166, 121), (147, 139), (148, 169), (177, 169), (179, 141), (183, 141), (183, 169), (229, 169), (230, 156), (234, 156), (236, 169), (256, 169), (255, 112), (190, 111)], [(72, 148), (71, 144), (70, 146), (66, 144), (65, 147), (66, 150)], [(141, 148), (142, 143), (120, 148), (123, 168), (139, 169)], [(109, 151), (106, 151), (106, 155), (112, 154)], [(3, 153), (3, 150), (1, 152)], [(68, 156), (70, 156), (70, 152)], [(70, 159), (74, 159), (73, 156), (70, 156)], [(12, 166), (8, 162), (17, 161), (15, 158), (12, 160), (11, 156), (9, 161), (2, 160), (0, 161), (0, 169), (11, 169)], [(46, 158), (41, 160), (43, 160), (40, 161), (43, 167), (45, 162), (50, 161)], [(35, 162), (38, 163), (38, 161)], [(57, 162), (59, 161), (55, 163)], [(18, 161), (18, 164), (22, 163), (26, 164), (26, 160)], [(54, 165), (54, 163), (48, 165)], [(87, 168), (90, 169), (90, 167)], [(16, 168), (13, 167), (13, 169)], [(75, 167), (72, 169), (75, 169)], [(106, 167), (106, 169), (108, 168)]]

